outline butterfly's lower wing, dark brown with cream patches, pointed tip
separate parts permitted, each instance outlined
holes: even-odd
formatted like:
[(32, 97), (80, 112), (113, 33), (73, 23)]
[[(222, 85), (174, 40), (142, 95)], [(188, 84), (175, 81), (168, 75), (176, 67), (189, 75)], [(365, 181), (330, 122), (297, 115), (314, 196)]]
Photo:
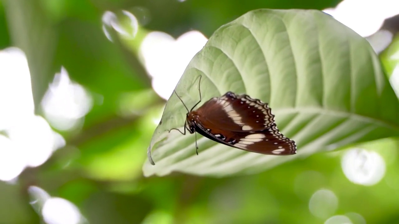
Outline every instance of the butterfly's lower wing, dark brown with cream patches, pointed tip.
[(211, 130), (196, 123), (196, 132), (213, 141), (246, 151), (267, 155), (296, 154), (295, 142), (284, 137), (276, 124), (257, 132), (231, 132), (219, 128)]

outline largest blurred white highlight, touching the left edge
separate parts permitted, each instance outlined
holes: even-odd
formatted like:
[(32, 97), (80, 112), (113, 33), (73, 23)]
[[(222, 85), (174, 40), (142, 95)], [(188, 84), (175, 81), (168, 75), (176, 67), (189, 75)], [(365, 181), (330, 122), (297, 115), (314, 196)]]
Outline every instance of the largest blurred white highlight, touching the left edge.
[(26, 167), (43, 164), (65, 140), (40, 116), (28, 62), (18, 48), (0, 51), (0, 180), (13, 181)]

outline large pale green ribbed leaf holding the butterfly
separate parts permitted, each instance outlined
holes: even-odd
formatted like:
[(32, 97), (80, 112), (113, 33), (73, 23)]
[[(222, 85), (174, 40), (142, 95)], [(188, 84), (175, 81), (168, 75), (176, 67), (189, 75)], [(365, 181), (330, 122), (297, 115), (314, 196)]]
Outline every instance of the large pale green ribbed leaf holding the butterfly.
[[(190, 108), (227, 91), (268, 102), (298, 154), (274, 156), (183, 136), (186, 110), (166, 104), (145, 176), (180, 171), (225, 176), (260, 172), (317, 151), (399, 135), (398, 100), (369, 43), (317, 10), (254, 10), (219, 28), (192, 59), (176, 92)], [(204, 101), (203, 101), (204, 102)]]

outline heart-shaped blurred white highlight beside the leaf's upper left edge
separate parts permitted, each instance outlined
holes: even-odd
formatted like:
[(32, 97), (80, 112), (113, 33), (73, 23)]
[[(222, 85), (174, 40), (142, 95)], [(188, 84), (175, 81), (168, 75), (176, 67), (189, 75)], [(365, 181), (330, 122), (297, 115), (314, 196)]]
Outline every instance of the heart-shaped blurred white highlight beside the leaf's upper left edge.
[(206, 42), (207, 38), (195, 30), (177, 39), (159, 31), (146, 35), (140, 54), (152, 77), (152, 88), (159, 96), (164, 99), (170, 97), (188, 63)]

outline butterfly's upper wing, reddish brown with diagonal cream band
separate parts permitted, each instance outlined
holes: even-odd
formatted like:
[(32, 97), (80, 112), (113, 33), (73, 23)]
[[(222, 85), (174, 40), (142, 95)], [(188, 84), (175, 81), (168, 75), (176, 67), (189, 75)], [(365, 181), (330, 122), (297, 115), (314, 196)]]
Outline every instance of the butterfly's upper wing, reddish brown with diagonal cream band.
[(274, 115), (268, 104), (247, 95), (227, 92), (221, 97), (211, 98), (197, 110), (201, 123), (223, 127), (233, 132), (256, 132), (270, 128)]

